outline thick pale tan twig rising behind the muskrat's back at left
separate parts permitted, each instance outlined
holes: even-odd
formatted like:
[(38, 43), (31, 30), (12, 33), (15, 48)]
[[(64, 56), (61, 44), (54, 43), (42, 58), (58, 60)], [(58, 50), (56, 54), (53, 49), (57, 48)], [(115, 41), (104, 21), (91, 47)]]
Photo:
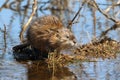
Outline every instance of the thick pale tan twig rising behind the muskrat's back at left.
[(21, 40), (21, 42), (24, 41), (23, 34), (24, 34), (25, 30), (27, 29), (28, 25), (30, 24), (33, 16), (35, 15), (36, 10), (37, 10), (37, 0), (34, 0), (33, 8), (32, 8), (32, 14), (30, 15), (30, 18), (29, 18), (28, 22), (22, 27), (22, 30), (20, 32), (20, 40)]

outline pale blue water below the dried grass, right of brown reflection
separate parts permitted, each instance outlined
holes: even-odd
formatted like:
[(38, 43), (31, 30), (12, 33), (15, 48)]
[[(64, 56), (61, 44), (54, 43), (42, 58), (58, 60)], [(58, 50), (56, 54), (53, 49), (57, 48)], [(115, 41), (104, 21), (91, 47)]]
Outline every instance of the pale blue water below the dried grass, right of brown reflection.
[(116, 59), (98, 59), (69, 65), (78, 80), (120, 80), (120, 55)]

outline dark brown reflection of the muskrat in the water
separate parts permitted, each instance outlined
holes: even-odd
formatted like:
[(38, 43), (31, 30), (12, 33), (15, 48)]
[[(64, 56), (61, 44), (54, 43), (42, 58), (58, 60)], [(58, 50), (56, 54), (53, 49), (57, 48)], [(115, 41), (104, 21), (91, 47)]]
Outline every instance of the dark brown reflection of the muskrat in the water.
[(75, 74), (67, 67), (50, 67), (43, 61), (29, 63), (29, 80), (77, 80)]

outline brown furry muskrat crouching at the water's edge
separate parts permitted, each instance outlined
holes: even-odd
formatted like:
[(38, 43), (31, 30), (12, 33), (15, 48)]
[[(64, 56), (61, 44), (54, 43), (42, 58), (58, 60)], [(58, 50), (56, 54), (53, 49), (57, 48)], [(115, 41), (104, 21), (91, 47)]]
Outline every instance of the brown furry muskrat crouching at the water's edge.
[(27, 30), (27, 42), (41, 53), (58, 52), (75, 44), (73, 33), (56, 16), (48, 15), (32, 21)]

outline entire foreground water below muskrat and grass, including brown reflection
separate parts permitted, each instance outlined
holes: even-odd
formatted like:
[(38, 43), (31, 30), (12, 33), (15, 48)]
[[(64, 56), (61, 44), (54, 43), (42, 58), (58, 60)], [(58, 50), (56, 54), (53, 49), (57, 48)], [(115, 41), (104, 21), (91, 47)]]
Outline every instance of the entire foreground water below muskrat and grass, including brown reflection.
[(120, 54), (115, 59), (79, 61), (52, 67), (45, 61), (0, 60), (0, 80), (120, 80)]

